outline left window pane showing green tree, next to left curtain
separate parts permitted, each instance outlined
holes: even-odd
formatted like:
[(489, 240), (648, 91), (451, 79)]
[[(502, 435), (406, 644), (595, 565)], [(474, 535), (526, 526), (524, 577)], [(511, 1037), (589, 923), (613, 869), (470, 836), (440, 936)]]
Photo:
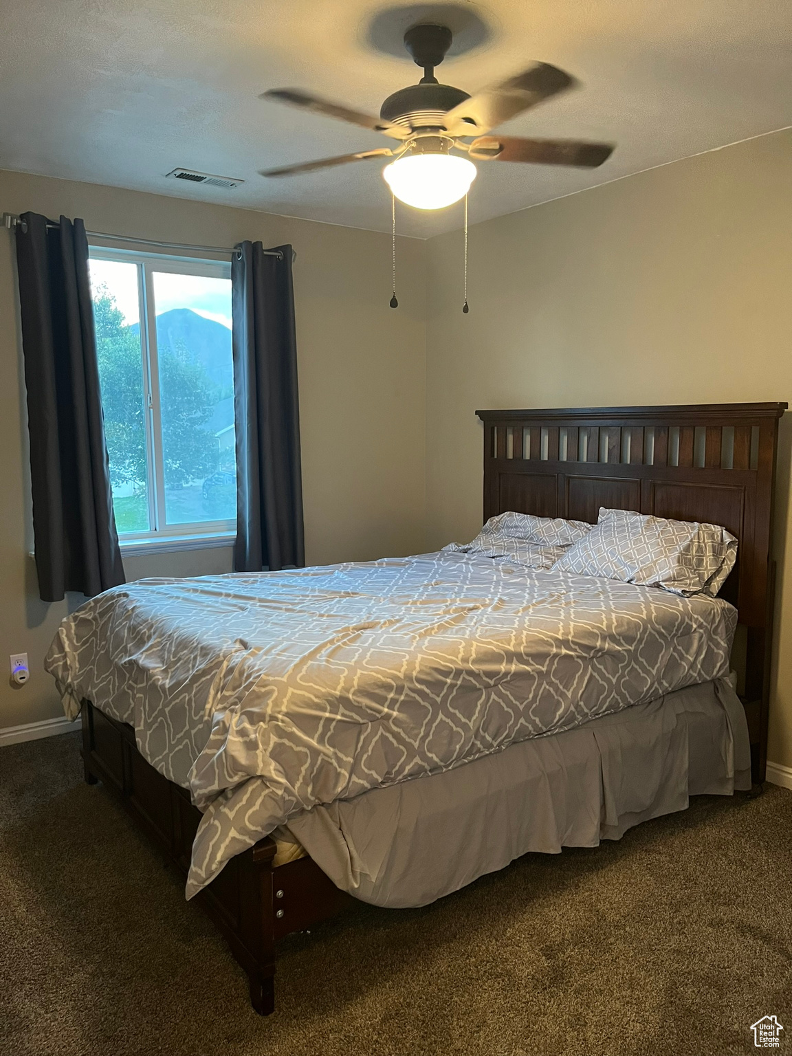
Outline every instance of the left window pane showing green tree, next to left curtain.
[(119, 533), (148, 531), (151, 525), (137, 265), (92, 259), (90, 270), (115, 523)]

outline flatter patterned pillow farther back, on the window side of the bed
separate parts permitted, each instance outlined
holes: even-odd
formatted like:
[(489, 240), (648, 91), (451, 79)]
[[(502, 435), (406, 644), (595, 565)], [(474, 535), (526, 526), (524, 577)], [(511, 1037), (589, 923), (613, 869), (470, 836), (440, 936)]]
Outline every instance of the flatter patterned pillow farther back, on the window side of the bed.
[(534, 517), (530, 513), (498, 513), (465, 546), (450, 543), (444, 550), (476, 553), (482, 558), (514, 561), (528, 568), (550, 568), (593, 525), (564, 517)]

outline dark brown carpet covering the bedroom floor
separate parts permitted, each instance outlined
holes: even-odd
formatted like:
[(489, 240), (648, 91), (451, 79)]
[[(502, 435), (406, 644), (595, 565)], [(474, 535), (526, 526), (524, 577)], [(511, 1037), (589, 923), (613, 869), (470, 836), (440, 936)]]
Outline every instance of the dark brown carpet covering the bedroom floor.
[(792, 792), (356, 907), (284, 943), (262, 1019), (77, 748), (0, 750), (2, 1056), (727, 1056), (766, 1014), (792, 1054)]

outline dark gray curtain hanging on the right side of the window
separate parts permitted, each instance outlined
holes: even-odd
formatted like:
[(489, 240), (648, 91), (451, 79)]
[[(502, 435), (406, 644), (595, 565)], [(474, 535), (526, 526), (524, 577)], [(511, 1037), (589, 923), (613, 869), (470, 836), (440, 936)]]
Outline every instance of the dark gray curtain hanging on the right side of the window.
[(305, 564), (291, 246), (231, 260), (238, 572)]

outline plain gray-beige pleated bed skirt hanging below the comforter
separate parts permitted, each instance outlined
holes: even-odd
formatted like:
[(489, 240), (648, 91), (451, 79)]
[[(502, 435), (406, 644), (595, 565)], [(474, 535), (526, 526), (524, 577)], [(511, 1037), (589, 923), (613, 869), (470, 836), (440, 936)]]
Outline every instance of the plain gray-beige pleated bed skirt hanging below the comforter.
[(528, 851), (596, 847), (684, 810), (690, 795), (750, 788), (744, 711), (719, 679), (315, 807), (276, 835), (281, 853), (299, 841), (363, 902), (422, 906)]

